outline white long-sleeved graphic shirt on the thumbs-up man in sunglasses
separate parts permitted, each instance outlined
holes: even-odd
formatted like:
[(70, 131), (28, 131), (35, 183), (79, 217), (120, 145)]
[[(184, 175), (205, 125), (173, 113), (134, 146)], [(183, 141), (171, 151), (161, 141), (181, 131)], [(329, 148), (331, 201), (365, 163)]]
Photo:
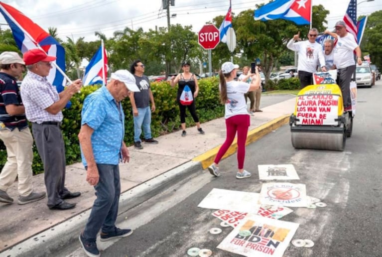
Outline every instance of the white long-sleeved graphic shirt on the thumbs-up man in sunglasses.
[(306, 72), (316, 72), (317, 65), (325, 66), (325, 58), (322, 46), (317, 43), (311, 43), (308, 40), (294, 42), (293, 38), (286, 44), (290, 50), (298, 52), (297, 70)]

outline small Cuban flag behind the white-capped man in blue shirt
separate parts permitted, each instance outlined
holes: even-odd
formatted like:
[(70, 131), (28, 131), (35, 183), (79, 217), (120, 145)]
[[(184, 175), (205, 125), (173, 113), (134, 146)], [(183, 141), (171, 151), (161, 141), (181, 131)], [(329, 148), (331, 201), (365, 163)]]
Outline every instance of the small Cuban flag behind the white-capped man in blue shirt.
[(102, 84), (106, 85), (108, 79), (108, 58), (104, 47), (104, 41), (101, 41), (101, 46), (96, 54), (90, 60), (85, 69), (84, 86)]

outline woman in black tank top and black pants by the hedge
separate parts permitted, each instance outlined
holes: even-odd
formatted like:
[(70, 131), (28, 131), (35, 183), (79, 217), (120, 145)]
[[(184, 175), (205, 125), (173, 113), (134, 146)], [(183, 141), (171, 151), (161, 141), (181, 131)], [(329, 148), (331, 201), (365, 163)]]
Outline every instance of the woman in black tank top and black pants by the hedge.
[[(178, 94), (176, 96), (176, 101), (178, 102), (179, 110), (180, 110), (180, 124), (182, 127), (182, 136), (186, 136), (187, 134), (186, 133), (186, 107), (188, 108), (188, 111), (190, 112), (192, 118), (194, 119), (196, 127), (198, 128), (198, 132), (201, 134), (204, 134), (203, 129), (200, 128), (200, 122), (196, 114), (196, 108), (195, 108), (195, 98), (198, 96), (198, 93), (199, 93), (198, 80), (196, 79), (194, 74), (190, 72), (190, 63), (188, 61), (184, 61), (182, 63), (182, 69), (183, 69), (183, 73), (179, 73), (176, 77), (172, 76), (171, 78), (171, 87), (174, 87), (175, 84), (178, 83)], [(182, 105), (180, 102), (180, 96), (186, 85), (191, 89), (192, 96), (194, 97), (194, 101), (187, 106)]]

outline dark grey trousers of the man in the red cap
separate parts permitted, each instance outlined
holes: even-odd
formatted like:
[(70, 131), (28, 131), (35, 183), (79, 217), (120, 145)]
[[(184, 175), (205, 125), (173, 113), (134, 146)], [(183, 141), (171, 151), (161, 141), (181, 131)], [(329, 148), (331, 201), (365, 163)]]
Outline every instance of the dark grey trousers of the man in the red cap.
[(65, 188), (65, 145), (58, 125), (32, 123), (32, 132), (38, 154), (44, 164), (44, 181), (48, 194), (48, 207), (60, 204)]

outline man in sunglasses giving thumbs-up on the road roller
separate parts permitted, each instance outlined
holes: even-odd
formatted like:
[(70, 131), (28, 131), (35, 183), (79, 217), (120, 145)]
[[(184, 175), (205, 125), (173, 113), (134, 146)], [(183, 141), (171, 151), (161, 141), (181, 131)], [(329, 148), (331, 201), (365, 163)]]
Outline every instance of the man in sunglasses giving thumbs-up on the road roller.
[[(290, 50), (298, 52), (297, 70), (301, 88), (313, 84), (313, 72), (317, 71), (318, 63), (321, 70), (326, 71), (322, 46), (316, 42), (317, 35), (317, 29), (311, 28), (308, 33), (308, 40), (300, 41), (300, 32), (298, 32), (286, 44)], [(295, 42), (296, 40), (299, 42)]]

